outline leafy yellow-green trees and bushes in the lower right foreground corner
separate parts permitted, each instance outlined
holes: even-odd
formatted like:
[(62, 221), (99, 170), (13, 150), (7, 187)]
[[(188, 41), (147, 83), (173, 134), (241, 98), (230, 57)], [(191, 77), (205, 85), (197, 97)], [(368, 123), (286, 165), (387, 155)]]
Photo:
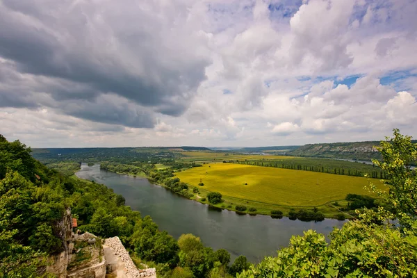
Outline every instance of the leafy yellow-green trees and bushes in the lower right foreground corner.
[(409, 167), (417, 160), (417, 144), (395, 130), (392, 139), (381, 142), (379, 152), (384, 162), (375, 164), (389, 172), (389, 191), (372, 183), (370, 189), (389, 209), (365, 209), (358, 220), (334, 229), (329, 244), (312, 230), (293, 236), (276, 257), (265, 258), (238, 278), (417, 277), (417, 174)]

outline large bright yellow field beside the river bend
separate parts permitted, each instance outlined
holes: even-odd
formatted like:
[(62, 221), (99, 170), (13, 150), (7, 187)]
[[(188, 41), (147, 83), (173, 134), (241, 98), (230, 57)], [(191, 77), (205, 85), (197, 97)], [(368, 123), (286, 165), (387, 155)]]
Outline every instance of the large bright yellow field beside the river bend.
[(283, 206), (320, 206), (345, 199), (348, 193), (371, 195), (363, 190), (366, 178), (273, 167), (217, 163), (176, 175), (192, 186), (202, 179), (204, 190)]

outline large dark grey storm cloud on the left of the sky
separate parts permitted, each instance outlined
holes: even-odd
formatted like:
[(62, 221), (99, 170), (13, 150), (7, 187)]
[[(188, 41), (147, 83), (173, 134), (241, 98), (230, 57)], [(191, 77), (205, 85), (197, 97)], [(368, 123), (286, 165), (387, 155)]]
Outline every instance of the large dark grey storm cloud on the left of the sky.
[[(25, 80), (24, 92), (6, 90), (22, 87), (15, 83), (0, 87), (0, 106), (53, 106), (133, 127), (153, 126), (154, 113), (181, 115), (210, 60), (187, 49), (190, 35), (172, 34), (169, 14), (164, 21), (138, 2), (127, 3), (0, 1), (0, 58), (13, 62), (17, 79), (34, 76)], [(50, 95), (49, 103), (40, 103), (39, 93)], [(108, 103), (101, 111), (98, 100), (108, 93), (137, 106), (121, 110)], [(79, 107), (68, 109), (70, 100)]]

